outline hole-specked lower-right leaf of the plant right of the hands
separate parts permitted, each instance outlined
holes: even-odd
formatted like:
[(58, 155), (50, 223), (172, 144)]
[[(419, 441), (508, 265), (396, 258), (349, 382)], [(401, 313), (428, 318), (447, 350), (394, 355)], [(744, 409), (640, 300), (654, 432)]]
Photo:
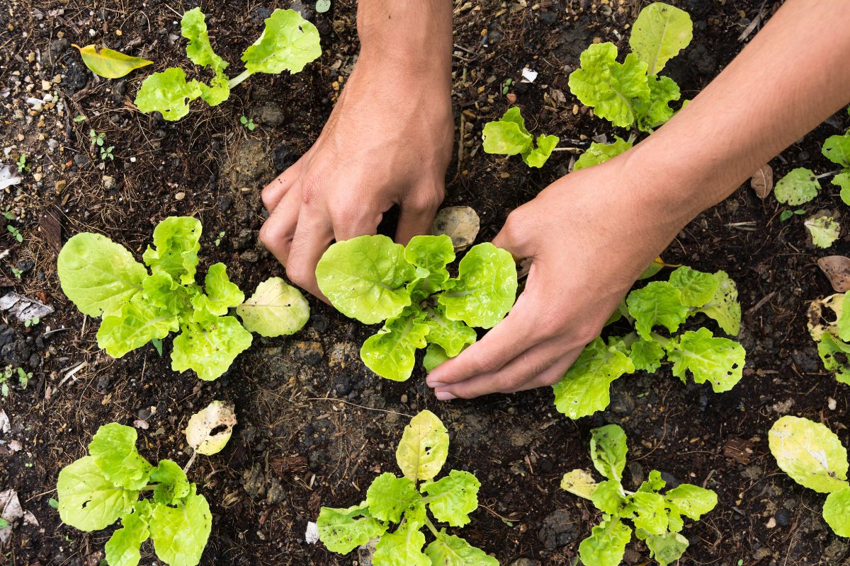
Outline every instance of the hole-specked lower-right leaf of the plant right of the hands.
[(744, 346), (715, 337), (708, 328), (683, 333), (678, 341), (667, 345), (673, 375), (684, 382), (690, 371), (694, 382), (710, 382), (715, 393), (723, 393), (738, 384), (743, 377), (745, 358)]

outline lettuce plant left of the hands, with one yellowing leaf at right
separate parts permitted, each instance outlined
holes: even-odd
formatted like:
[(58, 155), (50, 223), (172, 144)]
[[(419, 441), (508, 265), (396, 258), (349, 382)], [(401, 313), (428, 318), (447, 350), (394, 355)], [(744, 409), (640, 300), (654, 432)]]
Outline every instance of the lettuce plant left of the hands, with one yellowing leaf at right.
[[(122, 245), (95, 233), (73, 236), (59, 252), (62, 290), (83, 314), (103, 317), (98, 346), (110, 356), (122, 357), (174, 332), (172, 369), (193, 369), (211, 380), (251, 345), (252, 332), (291, 334), (307, 322), (307, 300), (280, 277), (261, 286), (272, 282), (286, 291), (287, 303), (261, 304), (254, 298), (243, 303), (245, 295), (230, 283), (223, 263), (209, 267), (203, 288), (195, 283), (201, 221), (169, 216), (156, 226), (153, 239), (142, 255), (144, 265)], [(238, 307), (242, 323), (229, 316), (231, 307)], [(262, 326), (254, 322), (260, 318)]]

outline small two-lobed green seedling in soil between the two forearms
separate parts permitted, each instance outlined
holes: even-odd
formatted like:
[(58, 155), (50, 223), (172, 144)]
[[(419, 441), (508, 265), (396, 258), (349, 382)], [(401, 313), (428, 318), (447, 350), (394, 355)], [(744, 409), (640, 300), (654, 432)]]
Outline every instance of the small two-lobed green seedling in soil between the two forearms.
[[(506, 87), (507, 88), (507, 87)], [(558, 145), (558, 137), (541, 134), (535, 143), (534, 136), (525, 129), (525, 120), (519, 108), (508, 109), (500, 120), (484, 124), (481, 134), (484, 152), (500, 155), (522, 155), (525, 165), (542, 167)]]

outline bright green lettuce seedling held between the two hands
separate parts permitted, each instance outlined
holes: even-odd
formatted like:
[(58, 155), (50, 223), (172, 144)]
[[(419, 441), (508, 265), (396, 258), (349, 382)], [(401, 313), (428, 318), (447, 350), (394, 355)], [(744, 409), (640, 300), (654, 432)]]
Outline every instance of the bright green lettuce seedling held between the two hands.
[(485, 243), (473, 246), (458, 266), (448, 236), (416, 236), (407, 246), (386, 236), (337, 242), (316, 266), (319, 289), (346, 317), (384, 322), (366, 339), (360, 357), (383, 378), (411, 377), (416, 350), (425, 367), (457, 356), (476, 340), (471, 327), (492, 328), (511, 310), (517, 292), (513, 257)]

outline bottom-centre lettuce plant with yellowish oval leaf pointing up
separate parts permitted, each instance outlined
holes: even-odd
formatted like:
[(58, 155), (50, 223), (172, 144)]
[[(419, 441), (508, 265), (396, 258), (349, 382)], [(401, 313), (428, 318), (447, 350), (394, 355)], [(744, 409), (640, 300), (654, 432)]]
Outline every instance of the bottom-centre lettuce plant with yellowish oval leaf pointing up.
[[(442, 479), (433, 479), (448, 454), (449, 434), (443, 423), (433, 412), (417, 414), (395, 451), (403, 477), (389, 472), (377, 476), (360, 505), (322, 507), (316, 521), (320, 541), (331, 552), (347, 554), (379, 538), (371, 562), (375, 566), (498, 566), (496, 558), (446, 534), (445, 528), (438, 530), (428, 518), (430, 511), (438, 522), (462, 527), (478, 508), (481, 484), (473, 474), (451, 470)], [(424, 527), (433, 535), (428, 546), (421, 532)]]

